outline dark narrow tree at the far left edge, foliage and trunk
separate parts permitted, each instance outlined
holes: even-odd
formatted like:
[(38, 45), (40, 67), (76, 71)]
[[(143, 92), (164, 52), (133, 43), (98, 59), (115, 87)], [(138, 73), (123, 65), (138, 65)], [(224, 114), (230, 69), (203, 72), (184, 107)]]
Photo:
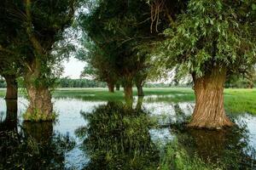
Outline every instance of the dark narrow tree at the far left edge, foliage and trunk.
[[(10, 19), (10, 1), (3, 1), (0, 8), (0, 75), (7, 83), (5, 99), (17, 99), (18, 87), (16, 77), (20, 75), (21, 58), (14, 52), (14, 46), (20, 46), (18, 36), (20, 24)], [(15, 2), (19, 4), (19, 2)]]

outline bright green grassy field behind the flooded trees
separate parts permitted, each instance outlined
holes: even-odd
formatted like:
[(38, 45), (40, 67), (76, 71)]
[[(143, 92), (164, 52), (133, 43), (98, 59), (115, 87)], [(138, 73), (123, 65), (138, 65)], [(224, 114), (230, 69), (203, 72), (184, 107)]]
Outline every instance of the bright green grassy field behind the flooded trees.
[[(0, 96), (4, 96), (5, 90), (0, 90)], [(23, 94), (23, 93), (20, 93)], [(137, 95), (136, 88), (133, 89)], [(194, 102), (195, 94), (191, 88), (144, 88), (147, 102)], [(150, 98), (156, 95), (157, 97)], [(53, 96), (55, 98), (79, 98), (84, 100), (122, 100), (122, 91), (113, 94), (108, 93), (107, 88), (57, 88)], [(248, 112), (256, 115), (256, 89), (227, 88), (224, 90), (224, 106), (230, 113)]]

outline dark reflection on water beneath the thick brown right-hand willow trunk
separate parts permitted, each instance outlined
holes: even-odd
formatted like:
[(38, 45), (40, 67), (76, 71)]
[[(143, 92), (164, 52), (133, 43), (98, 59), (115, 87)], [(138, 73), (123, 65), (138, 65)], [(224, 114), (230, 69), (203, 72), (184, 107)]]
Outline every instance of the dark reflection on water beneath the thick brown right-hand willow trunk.
[(186, 128), (177, 133), (177, 139), (190, 155), (196, 153), (203, 160), (215, 162), (224, 169), (247, 169), (256, 165), (253, 157), (248, 155), (254, 150), (248, 146), (246, 127), (223, 130)]

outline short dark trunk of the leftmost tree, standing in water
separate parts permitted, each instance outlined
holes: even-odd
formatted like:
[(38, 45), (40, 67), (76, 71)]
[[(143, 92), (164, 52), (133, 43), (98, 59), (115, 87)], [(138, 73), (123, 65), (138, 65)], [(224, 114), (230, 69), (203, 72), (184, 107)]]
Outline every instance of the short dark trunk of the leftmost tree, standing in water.
[(5, 99), (17, 99), (18, 84), (15, 75), (3, 75), (3, 77), (7, 84)]

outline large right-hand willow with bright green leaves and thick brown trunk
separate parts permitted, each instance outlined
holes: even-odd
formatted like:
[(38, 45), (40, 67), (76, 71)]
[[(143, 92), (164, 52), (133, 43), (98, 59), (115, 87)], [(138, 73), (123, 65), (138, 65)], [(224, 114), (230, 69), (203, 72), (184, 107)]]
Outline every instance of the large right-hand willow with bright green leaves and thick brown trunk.
[(166, 66), (177, 65), (179, 74), (191, 74), (195, 84), (190, 127), (232, 126), (224, 111), (224, 82), (255, 64), (255, 16), (250, 0), (190, 0), (165, 31), (162, 59)]

